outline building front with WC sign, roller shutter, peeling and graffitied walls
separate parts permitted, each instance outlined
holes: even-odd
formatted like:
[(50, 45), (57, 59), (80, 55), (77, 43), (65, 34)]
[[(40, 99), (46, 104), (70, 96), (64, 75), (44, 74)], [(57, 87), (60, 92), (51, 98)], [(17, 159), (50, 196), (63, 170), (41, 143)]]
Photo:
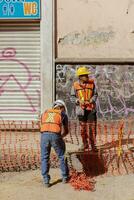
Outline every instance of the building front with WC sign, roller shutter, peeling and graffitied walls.
[(1, 0), (0, 4), (1, 120), (38, 121), (56, 98), (65, 100), (74, 118), (70, 90), (79, 65), (89, 67), (96, 80), (99, 117), (133, 116), (130, 1)]

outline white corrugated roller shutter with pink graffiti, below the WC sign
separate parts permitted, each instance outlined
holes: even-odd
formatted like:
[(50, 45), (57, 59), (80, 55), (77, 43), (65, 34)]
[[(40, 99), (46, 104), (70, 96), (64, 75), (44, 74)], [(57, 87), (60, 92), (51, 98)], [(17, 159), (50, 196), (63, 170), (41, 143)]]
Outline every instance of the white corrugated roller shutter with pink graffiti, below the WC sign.
[(38, 120), (40, 24), (0, 23), (0, 120)]

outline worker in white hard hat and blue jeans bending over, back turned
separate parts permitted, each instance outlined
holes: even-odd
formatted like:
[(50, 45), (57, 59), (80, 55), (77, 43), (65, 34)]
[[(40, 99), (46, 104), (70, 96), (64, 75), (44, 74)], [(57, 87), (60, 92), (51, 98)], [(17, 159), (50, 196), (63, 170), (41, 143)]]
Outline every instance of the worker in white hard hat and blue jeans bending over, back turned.
[(51, 147), (54, 148), (59, 160), (62, 182), (68, 180), (68, 167), (64, 157), (65, 142), (63, 138), (68, 134), (67, 108), (62, 100), (56, 100), (53, 107), (41, 116), (41, 172), (44, 185), (50, 186), (49, 158)]

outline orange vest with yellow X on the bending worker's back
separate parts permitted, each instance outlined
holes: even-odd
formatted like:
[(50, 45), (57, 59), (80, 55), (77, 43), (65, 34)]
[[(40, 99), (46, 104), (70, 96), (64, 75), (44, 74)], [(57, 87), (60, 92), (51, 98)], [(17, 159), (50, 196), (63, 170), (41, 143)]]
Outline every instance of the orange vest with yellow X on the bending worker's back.
[(49, 109), (41, 116), (40, 132), (61, 132), (61, 110)]

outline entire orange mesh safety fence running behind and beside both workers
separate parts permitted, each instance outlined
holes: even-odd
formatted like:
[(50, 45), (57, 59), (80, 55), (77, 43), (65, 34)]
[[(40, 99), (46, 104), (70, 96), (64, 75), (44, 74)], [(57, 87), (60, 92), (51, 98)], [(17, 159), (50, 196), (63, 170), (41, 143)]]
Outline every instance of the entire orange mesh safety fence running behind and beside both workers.
[[(93, 130), (95, 126), (87, 124)], [(78, 151), (82, 144), (80, 124), (70, 120), (66, 143), (69, 146), (69, 167), (87, 176), (119, 175), (134, 172), (134, 119), (97, 122), (98, 152)], [(71, 148), (73, 150), (71, 150)], [(51, 156), (51, 166), (57, 167), (58, 159)], [(40, 167), (39, 122), (0, 121), (0, 171), (20, 171)]]

